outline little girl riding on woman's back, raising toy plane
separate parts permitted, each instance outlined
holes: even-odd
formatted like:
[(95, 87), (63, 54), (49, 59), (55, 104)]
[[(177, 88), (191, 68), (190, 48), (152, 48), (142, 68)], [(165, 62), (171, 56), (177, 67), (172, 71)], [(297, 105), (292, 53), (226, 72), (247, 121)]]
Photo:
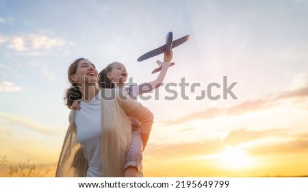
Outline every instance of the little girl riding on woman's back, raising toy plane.
[[(170, 66), (172, 55), (172, 51), (170, 51), (169, 55), (164, 53), (164, 63), (161, 63), (162, 70), (157, 76), (157, 79), (138, 86), (125, 87), (125, 81), (127, 81), (128, 77), (126, 68), (120, 62), (113, 62), (99, 73), (99, 88), (123, 88), (123, 90), (126, 90), (131, 97), (136, 99), (140, 94), (158, 88), (160, 84), (162, 84)], [(79, 100), (74, 101), (72, 108), (74, 110), (81, 109)], [(138, 120), (132, 118), (131, 144), (129, 150), (127, 151), (124, 166), (125, 177), (137, 177), (138, 172), (142, 173), (142, 151), (144, 150), (148, 139), (149, 133), (143, 133), (140, 131), (140, 124)]]

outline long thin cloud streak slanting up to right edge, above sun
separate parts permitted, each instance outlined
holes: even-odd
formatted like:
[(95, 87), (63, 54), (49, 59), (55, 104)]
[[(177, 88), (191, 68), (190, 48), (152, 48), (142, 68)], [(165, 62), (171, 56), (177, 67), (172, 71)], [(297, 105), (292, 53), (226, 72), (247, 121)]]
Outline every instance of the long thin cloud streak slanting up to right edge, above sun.
[(269, 95), (268, 99), (255, 99), (251, 101), (244, 101), (238, 105), (231, 107), (209, 107), (207, 110), (202, 112), (194, 112), (186, 116), (181, 116), (172, 120), (164, 121), (164, 125), (178, 125), (188, 123), (192, 120), (203, 120), (208, 118), (215, 118), (222, 115), (240, 115), (246, 114), (247, 112), (253, 112), (257, 110), (265, 110), (270, 107), (277, 105), (277, 101), (290, 98), (305, 98), (308, 97), (308, 86), (298, 88), (292, 91), (280, 92), (279, 94)]

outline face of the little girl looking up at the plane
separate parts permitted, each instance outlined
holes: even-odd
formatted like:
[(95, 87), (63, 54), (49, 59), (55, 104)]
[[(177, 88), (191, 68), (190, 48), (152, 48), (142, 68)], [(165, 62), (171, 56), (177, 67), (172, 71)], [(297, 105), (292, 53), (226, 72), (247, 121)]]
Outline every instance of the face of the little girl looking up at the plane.
[(124, 84), (127, 81), (127, 71), (123, 64), (116, 63), (112, 66), (112, 71), (108, 73), (110, 81), (118, 84)]

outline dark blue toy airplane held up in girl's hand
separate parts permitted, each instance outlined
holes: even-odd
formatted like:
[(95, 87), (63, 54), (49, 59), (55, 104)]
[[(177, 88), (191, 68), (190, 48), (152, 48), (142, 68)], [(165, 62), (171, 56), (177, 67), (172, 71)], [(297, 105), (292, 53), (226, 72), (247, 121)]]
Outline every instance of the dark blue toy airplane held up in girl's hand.
[[(172, 41), (172, 32), (168, 32), (167, 36), (166, 36), (166, 40), (165, 40), (165, 44), (162, 47), (158, 47), (157, 49), (154, 49), (153, 51), (149, 51), (147, 53), (145, 53), (144, 55), (140, 56), (140, 58), (138, 58), (138, 62), (142, 61), (142, 60), (146, 60), (148, 58), (152, 58), (155, 55), (159, 55), (161, 53), (164, 53), (166, 51), (167, 54), (170, 53), (170, 49), (173, 49), (181, 44), (183, 44), (184, 42), (186, 42), (188, 40), (188, 38), (190, 37), (189, 35), (183, 36), (182, 38), (179, 38), (177, 40)], [(162, 62), (157, 62), (157, 64), (159, 65), (159, 68), (156, 68), (153, 73), (157, 73), (158, 71), (162, 70)], [(172, 62), (170, 64), (170, 66), (175, 65), (174, 62)]]

